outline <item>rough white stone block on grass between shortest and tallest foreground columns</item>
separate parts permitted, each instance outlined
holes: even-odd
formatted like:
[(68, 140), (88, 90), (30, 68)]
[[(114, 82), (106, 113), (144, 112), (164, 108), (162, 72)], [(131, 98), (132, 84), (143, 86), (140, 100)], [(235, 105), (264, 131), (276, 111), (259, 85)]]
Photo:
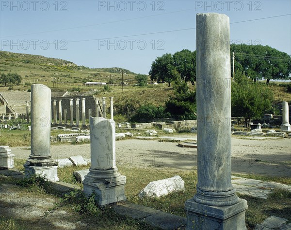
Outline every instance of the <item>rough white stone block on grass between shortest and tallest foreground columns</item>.
[(140, 191), (138, 196), (140, 198), (156, 198), (179, 191), (185, 191), (184, 181), (180, 176), (176, 175), (171, 178), (150, 182), (143, 190)]

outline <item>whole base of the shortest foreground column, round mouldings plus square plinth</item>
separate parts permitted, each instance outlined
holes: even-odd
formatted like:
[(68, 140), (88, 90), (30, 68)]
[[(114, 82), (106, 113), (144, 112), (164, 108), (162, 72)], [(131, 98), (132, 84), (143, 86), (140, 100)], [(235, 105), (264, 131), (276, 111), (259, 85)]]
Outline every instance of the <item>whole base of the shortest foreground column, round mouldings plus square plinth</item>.
[[(90, 172), (82, 181), (85, 194), (90, 196), (95, 192), (95, 200), (99, 206), (126, 200), (124, 192), (126, 176), (120, 175), (116, 171), (117, 169), (104, 171), (90, 169)], [(103, 173), (101, 175), (95, 174), (97, 172)], [(107, 179), (105, 175), (108, 175)]]

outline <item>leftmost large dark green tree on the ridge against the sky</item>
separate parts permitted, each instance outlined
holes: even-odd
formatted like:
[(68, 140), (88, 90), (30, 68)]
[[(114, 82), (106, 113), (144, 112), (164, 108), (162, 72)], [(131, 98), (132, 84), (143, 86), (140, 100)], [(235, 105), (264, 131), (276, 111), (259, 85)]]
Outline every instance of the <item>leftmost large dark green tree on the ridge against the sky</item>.
[(177, 74), (175, 74), (174, 59), (171, 54), (164, 54), (162, 57), (156, 58), (151, 65), (149, 71), (150, 80), (158, 82), (167, 82), (171, 86), (171, 82), (175, 81)]

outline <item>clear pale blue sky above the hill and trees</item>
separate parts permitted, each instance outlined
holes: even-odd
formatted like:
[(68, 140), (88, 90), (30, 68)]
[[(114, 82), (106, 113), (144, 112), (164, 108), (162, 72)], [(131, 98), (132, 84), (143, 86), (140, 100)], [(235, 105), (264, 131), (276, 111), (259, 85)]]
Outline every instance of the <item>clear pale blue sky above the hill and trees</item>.
[(230, 43), (291, 55), (290, 0), (0, 0), (0, 50), (148, 74), (157, 57), (195, 50), (197, 13), (229, 16)]

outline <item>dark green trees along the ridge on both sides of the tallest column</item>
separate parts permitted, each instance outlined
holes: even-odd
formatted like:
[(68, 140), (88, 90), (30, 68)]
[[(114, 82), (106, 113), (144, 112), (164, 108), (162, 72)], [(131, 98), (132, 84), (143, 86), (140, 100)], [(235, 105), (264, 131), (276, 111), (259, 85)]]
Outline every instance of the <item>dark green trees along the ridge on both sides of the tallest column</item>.
[[(245, 75), (254, 82), (266, 79), (288, 80), (291, 74), (291, 56), (268, 45), (231, 44), (235, 54), (235, 75)], [(231, 62), (232, 69), (232, 62)], [(167, 82), (168, 86), (179, 77), (194, 85), (196, 81), (196, 51), (183, 49), (175, 54), (157, 57), (149, 71), (151, 81)], [(233, 73), (232, 73), (233, 77)]]

